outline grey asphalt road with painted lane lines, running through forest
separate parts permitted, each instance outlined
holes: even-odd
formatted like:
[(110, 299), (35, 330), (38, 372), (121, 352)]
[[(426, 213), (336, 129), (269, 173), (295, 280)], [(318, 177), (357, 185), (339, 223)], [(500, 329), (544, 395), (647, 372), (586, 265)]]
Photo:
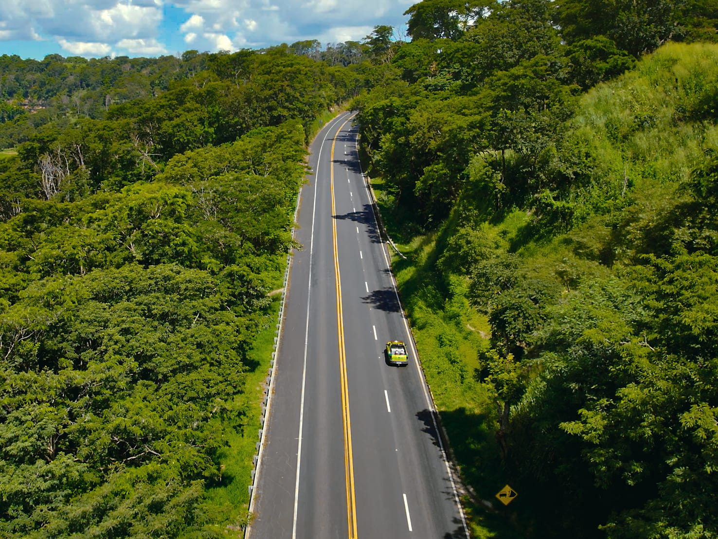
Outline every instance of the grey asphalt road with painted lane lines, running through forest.
[(246, 537), (467, 538), (350, 114), (310, 150)]

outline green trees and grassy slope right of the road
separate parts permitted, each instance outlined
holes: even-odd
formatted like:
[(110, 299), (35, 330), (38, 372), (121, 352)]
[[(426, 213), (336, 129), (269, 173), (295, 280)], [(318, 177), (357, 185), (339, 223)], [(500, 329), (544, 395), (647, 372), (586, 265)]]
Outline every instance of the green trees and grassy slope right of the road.
[(717, 537), (718, 3), (407, 14), (354, 103), (474, 535)]

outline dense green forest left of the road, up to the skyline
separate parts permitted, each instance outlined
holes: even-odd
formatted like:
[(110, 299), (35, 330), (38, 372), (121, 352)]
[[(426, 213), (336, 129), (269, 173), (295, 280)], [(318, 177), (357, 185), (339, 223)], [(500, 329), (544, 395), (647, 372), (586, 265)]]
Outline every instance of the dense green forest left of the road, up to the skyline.
[(306, 142), (365, 49), (0, 57), (2, 537), (241, 533)]

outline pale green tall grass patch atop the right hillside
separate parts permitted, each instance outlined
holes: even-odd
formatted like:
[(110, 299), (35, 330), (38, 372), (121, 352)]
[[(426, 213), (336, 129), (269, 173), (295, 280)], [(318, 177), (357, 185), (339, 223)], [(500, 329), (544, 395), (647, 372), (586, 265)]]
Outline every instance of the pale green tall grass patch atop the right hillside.
[(633, 189), (683, 182), (716, 147), (717, 104), (717, 44), (666, 44), (586, 93), (565, 131), (595, 163), (591, 184), (570, 197), (579, 220), (620, 211)]

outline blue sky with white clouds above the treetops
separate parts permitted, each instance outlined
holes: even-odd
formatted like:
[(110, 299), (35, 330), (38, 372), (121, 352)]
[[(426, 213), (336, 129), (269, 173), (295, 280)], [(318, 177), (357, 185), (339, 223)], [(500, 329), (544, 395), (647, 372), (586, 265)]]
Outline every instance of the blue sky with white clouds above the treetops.
[(0, 0), (0, 55), (159, 56), (360, 40), (417, 0)]

